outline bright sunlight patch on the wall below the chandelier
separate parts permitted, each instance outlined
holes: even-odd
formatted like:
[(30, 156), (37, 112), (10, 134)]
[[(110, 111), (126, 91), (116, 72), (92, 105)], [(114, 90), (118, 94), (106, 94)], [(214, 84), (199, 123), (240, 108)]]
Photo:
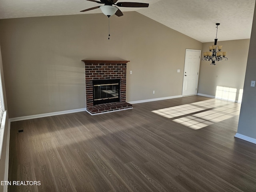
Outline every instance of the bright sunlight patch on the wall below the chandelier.
[[(238, 94), (238, 100), (236, 100), (236, 96)], [(243, 89), (240, 89), (239, 92), (236, 88), (217, 86), (215, 98), (228, 100), (232, 102), (242, 102)]]

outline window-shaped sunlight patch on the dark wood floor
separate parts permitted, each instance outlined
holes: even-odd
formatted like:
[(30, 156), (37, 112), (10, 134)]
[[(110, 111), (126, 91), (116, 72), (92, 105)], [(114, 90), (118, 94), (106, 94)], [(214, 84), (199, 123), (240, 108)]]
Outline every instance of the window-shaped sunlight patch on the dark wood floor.
[(210, 99), (152, 112), (197, 130), (239, 115), (240, 104)]

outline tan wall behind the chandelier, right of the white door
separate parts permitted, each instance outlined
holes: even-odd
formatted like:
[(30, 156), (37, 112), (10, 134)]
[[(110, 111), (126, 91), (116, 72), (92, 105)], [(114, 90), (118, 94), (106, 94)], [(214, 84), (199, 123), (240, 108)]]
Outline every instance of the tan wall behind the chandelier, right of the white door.
[[(209, 61), (201, 61), (198, 93), (241, 101), (239, 92), (244, 86), (249, 43), (250, 39), (217, 42), (217, 45), (223, 46), (223, 51), (227, 51), (228, 60), (216, 62), (215, 66), (210, 65)], [(214, 42), (203, 43), (202, 56), (213, 44)], [(223, 88), (224, 91), (220, 92), (217, 88)], [(236, 93), (233, 93), (235, 90)]]

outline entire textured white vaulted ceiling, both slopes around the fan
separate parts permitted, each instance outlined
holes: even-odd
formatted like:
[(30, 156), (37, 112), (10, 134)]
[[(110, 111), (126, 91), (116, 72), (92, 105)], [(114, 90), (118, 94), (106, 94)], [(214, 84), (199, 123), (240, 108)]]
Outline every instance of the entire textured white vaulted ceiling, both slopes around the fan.
[[(149, 3), (137, 11), (200, 42), (213, 42), (219, 22), (218, 41), (250, 38), (255, 0), (119, 0)], [(0, 19), (100, 13), (86, 0), (0, 0)], [(125, 13), (124, 13), (125, 14)], [(122, 17), (120, 17), (122, 19)]]

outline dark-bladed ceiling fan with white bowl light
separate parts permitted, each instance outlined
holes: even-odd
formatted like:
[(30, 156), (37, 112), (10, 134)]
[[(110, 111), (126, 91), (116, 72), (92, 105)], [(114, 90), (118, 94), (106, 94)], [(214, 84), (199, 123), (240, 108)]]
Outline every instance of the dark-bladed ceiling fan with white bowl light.
[[(148, 7), (149, 6), (148, 3), (136, 3), (136, 2), (118, 2), (118, 3), (116, 3), (118, 0), (100, 0), (100, 1), (87, 0), (87, 1), (92, 1), (92, 2), (99, 3), (99, 4), (104, 4), (104, 5), (85, 9), (80, 12), (85, 12), (85, 11), (90, 11), (90, 10), (100, 8), (101, 11), (108, 17), (110, 17), (114, 14), (118, 17), (124, 15), (122, 13), (122, 11), (120, 9), (118, 9), (116, 6), (118, 6), (118, 7)], [(113, 5), (115, 5), (115, 6), (113, 6)]]

